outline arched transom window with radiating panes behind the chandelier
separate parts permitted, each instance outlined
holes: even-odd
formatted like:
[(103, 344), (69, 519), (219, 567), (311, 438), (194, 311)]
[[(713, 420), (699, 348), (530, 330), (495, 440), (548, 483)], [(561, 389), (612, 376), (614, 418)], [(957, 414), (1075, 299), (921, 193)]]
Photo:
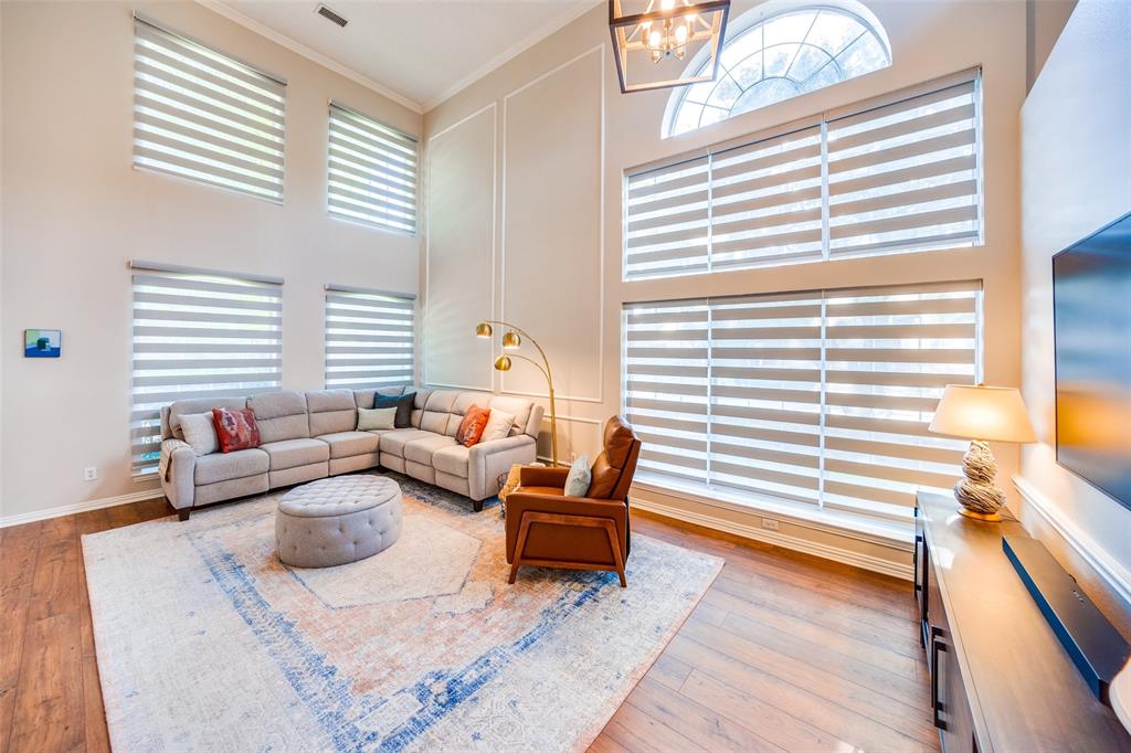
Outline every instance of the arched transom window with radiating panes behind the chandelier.
[[(891, 64), (878, 24), (841, 8), (787, 10), (745, 28), (740, 17), (735, 27), (742, 31), (725, 41), (716, 80), (680, 87), (672, 94), (665, 137)], [(692, 62), (700, 69), (696, 72), (707, 62)]]

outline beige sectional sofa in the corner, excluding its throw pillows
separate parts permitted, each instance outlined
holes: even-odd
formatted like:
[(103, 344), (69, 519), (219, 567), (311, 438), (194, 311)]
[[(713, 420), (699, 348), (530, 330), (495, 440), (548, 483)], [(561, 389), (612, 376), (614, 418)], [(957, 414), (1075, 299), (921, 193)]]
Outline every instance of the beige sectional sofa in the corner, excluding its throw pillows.
[[(428, 388), (379, 392), (416, 393), (412, 426), (356, 431), (357, 408), (373, 406), (374, 390), (282, 390), (173, 403), (161, 412), (162, 490), (187, 520), (193, 508), (381, 466), (463, 494), (482, 510), (483, 500), (499, 492), (501, 474), (512, 464), (535, 460), (543, 412), (532, 400)], [(510, 435), (470, 448), (456, 442), (473, 405), (513, 415)], [(196, 456), (183, 441), (180, 417), (215, 407), (254, 410), (261, 445)]]

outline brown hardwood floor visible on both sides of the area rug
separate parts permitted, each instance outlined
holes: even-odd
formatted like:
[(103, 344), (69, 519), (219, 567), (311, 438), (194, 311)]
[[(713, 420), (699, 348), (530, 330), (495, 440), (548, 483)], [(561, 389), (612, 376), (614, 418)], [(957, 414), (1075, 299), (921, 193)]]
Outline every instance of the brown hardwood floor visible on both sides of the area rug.
[[(0, 529), (0, 753), (109, 750), (79, 537), (171, 513), (152, 500)], [(938, 750), (910, 583), (633, 526), (726, 566), (593, 753)]]

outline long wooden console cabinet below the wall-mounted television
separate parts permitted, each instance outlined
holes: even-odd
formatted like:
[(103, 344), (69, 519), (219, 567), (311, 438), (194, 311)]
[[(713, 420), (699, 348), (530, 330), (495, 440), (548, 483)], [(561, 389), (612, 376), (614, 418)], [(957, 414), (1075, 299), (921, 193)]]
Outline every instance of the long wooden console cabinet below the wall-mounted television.
[(1025, 529), (957, 504), (921, 492), (915, 508), (915, 598), (943, 750), (1131, 752), (1002, 551)]

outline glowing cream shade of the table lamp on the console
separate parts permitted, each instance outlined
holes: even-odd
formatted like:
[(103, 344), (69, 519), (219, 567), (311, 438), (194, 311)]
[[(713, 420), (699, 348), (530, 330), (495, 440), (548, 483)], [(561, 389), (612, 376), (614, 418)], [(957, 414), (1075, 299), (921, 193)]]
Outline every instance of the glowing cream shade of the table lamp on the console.
[(1035, 442), (1021, 393), (1013, 387), (948, 384), (931, 431), (988, 442)]

